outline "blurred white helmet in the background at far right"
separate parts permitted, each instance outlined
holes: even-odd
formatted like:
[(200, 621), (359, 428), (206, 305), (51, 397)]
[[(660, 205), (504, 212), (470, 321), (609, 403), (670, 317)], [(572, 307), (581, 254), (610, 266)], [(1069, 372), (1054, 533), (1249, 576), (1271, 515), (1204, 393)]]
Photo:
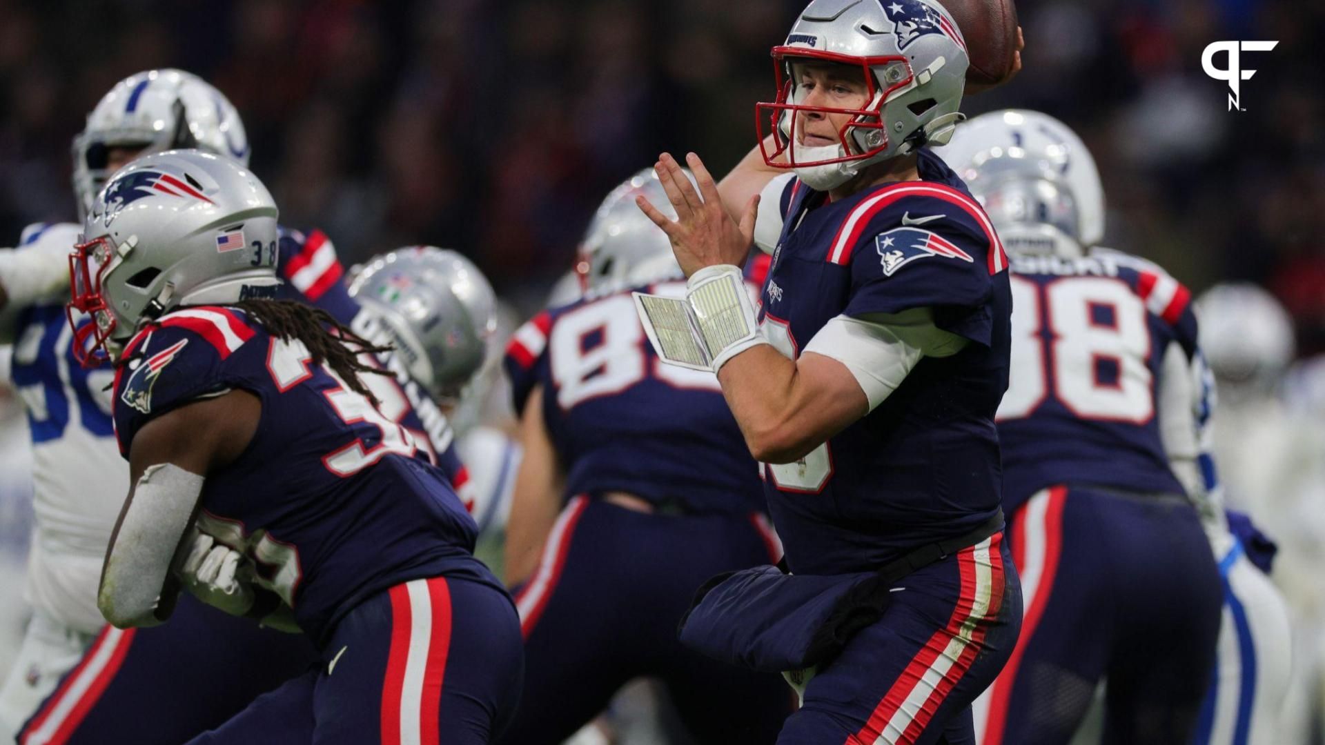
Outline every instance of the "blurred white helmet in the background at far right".
[(1224, 282), (1196, 298), (1200, 347), (1220, 391), (1277, 384), (1293, 361), (1293, 319), (1283, 304), (1249, 282)]

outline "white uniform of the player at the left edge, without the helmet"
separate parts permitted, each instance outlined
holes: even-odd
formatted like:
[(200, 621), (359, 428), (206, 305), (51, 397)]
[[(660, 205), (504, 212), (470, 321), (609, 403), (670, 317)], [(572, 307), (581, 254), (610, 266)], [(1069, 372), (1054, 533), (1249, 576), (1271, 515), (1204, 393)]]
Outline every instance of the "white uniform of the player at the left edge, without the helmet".
[(111, 492), (129, 479), (110, 428), (105, 388), (113, 372), (89, 374), (69, 354), (64, 302), (80, 232), (73, 224), (32, 225), (17, 248), (0, 251), (0, 338), (15, 345), (12, 376), (32, 433), (37, 518), (24, 586), (32, 619), (0, 689), (5, 737), (105, 624), (95, 598), (115, 521)]

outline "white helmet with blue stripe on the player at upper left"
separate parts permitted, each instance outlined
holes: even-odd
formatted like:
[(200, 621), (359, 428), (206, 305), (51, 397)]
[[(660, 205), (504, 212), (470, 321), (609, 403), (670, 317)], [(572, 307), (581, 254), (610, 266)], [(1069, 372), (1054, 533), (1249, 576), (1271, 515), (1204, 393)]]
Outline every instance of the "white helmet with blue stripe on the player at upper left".
[(111, 175), (109, 147), (140, 147), (143, 155), (191, 147), (244, 166), (249, 159), (244, 122), (229, 99), (197, 76), (174, 69), (129, 76), (87, 114), (87, 126), (73, 142), (80, 219)]

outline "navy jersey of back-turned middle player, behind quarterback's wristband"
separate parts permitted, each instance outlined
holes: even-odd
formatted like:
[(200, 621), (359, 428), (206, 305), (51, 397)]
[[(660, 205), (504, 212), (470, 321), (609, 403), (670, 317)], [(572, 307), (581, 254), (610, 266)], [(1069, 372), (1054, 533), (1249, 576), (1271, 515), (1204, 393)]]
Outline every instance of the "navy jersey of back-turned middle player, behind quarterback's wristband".
[[(637, 288), (680, 296), (685, 282)], [(506, 351), (515, 410), (543, 387), (567, 496), (628, 492), (692, 513), (765, 512), (717, 375), (659, 361), (629, 290), (538, 314)]]

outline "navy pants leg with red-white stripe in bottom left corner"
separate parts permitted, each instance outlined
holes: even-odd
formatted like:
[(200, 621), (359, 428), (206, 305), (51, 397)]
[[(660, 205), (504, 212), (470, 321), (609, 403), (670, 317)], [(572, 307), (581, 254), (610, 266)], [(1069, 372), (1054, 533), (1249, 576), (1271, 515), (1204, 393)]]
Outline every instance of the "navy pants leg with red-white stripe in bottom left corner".
[(317, 661), (302, 634), (182, 594), (170, 623), (106, 626), (24, 725), (24, 745), (179, 745)]

